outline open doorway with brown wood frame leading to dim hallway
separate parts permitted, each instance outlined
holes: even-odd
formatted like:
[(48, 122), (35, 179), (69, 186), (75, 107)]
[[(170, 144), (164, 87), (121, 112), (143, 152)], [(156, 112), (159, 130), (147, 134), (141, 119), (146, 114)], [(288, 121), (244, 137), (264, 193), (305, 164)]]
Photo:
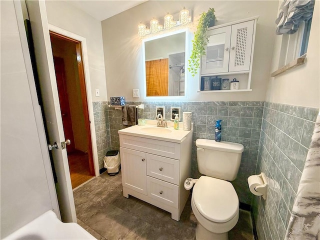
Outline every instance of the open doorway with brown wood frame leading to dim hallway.
[(81, 42), (50, 31), (72, 188), (94, 176)]

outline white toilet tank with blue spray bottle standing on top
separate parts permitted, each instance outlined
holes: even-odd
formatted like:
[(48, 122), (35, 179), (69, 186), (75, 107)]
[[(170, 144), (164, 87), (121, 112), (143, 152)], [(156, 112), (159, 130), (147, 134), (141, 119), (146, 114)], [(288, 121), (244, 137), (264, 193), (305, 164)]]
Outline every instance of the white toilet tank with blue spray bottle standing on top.
[(242, 144), (196, 139), (195, 145), (200, 173), (227, 181), (235, 179), (244, 149)]

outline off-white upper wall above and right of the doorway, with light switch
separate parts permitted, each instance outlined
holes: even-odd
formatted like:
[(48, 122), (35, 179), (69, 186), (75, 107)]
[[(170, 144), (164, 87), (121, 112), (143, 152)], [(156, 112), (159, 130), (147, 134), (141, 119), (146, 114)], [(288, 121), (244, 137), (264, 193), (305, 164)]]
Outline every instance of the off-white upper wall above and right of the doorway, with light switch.
[[(105, 101), (106, 85), (101, 22), (67, 1), (45, 1), (48, 22), (86, 38), (92, 101)], [(94, 89), (100, 89), (96, 97)]]

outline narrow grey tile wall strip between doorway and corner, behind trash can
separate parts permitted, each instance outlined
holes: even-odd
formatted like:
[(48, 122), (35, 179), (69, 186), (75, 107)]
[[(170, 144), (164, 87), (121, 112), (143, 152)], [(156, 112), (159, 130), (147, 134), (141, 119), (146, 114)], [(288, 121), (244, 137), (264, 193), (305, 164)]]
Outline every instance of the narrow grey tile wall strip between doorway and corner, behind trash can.
[(111, 150), (108, 105), (107, 101), (93, 101), (92, 104), (99, 169), (101, 169), (105, 153)]

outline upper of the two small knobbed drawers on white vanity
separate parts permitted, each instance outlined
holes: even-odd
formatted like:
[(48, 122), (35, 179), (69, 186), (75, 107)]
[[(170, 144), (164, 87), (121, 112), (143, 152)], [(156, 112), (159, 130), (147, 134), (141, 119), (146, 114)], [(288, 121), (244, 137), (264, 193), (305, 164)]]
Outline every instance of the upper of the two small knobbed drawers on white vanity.
[(179, 161), (146, 153), (146, 174), (178, 185)]

